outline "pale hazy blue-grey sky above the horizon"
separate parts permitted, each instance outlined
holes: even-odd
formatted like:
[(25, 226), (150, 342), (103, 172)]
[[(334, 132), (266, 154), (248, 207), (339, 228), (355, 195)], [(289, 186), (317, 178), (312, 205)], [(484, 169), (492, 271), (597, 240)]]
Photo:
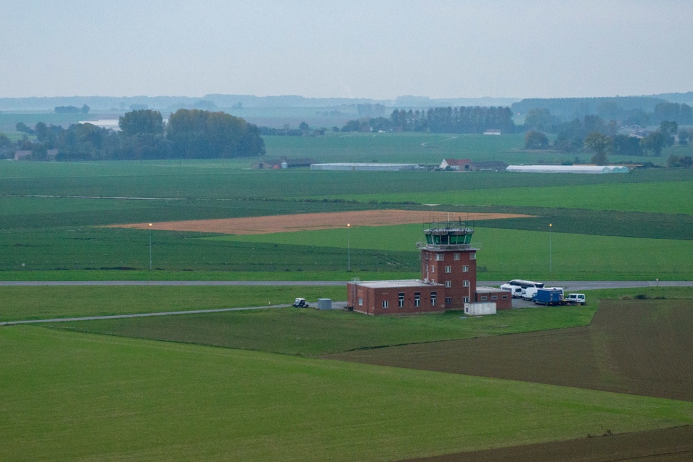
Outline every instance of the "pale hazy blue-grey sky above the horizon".
[(690, 0), (0, 0), (0, 98), (693, 91)]

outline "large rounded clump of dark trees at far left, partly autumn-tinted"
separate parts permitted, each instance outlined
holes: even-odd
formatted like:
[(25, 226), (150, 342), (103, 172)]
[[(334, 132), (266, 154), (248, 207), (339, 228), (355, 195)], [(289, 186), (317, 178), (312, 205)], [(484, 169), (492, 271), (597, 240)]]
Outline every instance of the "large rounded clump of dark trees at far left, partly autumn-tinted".
[[(265, 142), (256, 125), (224, 112), (179, 109), (164, 123), (159, 111), (141, 109), (119, 118), (120, 131), (91, 123), (58, 125), (39, 122), (32, 129), (24, 123), (17, 131), (24, 138), (19, 150), (31, 151), (35, 160), (45, 160), (57, 150), (56, 160), (209, 159), (254, 157), (265, 154)], [(35, 141), (28, 135), (35, 136)], [(12, 144), (0, 134), (0, 149), (12, 154)]]

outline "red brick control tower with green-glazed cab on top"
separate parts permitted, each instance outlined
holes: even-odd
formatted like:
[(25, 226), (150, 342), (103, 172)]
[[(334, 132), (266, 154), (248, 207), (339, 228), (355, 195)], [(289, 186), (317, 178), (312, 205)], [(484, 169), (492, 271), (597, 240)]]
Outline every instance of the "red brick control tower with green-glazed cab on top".
[(477, 249), (471, 247), (473, 233), (462, 222), (431, 223), (423, 230), (426, 247), (421, 249), (421, 279), (445, 285), (448, 310), (475, 301)]

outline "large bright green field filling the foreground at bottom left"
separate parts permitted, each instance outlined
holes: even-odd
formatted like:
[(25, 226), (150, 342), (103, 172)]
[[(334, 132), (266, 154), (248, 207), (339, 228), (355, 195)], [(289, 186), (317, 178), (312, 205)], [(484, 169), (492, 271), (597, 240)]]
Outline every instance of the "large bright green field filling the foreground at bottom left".
[(693, 403), (0, 328), (3, 460), (388, 461), (689, 425)]

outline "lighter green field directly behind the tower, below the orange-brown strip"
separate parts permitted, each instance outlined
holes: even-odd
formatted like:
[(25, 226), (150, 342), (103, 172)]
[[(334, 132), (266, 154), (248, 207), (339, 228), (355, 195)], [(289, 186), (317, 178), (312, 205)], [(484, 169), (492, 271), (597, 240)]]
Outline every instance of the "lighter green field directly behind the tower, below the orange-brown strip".
[[(556, 228), (560, 228), (556, 224)], [(681, 280), (693, 277), (693, 241), (621, 238), (572, 233), (516, 231), (475, 227), (472, 245), (477, 254), (478, 277), (496, 281), (524, 274), (527, 278), (557, 280)], [(552, 226), (554, 227), (554, 226)], [(352, 249), (410, 251), (423, 240), (423, 224), (353, 226)], [(394, 238), (396, 236), (396, 238)], [(346, 229), (297, 231), (256, 236), (222, 236), (220, 241), (315, 245), (344, 249)], [(551, 252), (549, 251), (551, 241)], [(550, 268), (551, 257), (551, 268)], [(359, 258), (352, 267), (360, 268)], [(550, 271), (551, 269), (551, 271)]]

